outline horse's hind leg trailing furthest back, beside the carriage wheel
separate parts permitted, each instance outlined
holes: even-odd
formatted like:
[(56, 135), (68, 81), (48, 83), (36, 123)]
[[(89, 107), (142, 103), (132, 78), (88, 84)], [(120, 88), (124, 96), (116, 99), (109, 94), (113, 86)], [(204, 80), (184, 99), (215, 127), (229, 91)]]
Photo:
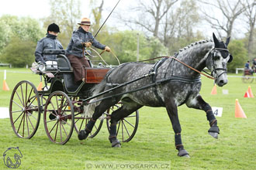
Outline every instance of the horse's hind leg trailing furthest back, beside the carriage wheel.
[(114, 100), (102, 100), (102, 102), (95, 107), (95, 112), (92, 115), (92, 119), (86, 124), (85, 130), (81, 130), (78, 133), (79, 140), (85, 140), (88, 137), (88, 134), (91, 133), (97, 119), (101, 117), (104, 111), (106, 111), (113, 104), (116, 104)]

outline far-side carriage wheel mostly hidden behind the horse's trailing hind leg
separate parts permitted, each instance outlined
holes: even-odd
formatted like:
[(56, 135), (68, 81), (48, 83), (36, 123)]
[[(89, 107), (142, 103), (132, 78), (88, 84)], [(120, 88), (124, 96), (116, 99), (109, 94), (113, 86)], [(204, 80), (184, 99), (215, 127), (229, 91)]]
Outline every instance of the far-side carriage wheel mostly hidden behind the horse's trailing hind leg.
[[(77, 131), (77, 133), (79, 133), (79, 131), (85, 129), (85, 125), (88, 123), (88, 121), (90, 121), (91, 118), (74, 117), (74, 119), (74, 129)], [(94, 138), (99, 133), (100, 129), (102, 128), (103, 121), (103, 119), (96, 121), (94, 128), (89, 134), (90, 136), (88, 136), (89, 138)]]

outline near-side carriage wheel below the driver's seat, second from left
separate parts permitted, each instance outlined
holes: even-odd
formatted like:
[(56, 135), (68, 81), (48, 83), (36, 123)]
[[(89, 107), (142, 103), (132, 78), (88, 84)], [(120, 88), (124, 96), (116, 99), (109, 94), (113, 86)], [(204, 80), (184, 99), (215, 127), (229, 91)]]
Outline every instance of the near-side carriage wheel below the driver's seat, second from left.
[(50, 141), (64, 145), (74, 129), (74, 108), (70, 98), (62, 91), (51, 93), (43, 111), (43, 124)]

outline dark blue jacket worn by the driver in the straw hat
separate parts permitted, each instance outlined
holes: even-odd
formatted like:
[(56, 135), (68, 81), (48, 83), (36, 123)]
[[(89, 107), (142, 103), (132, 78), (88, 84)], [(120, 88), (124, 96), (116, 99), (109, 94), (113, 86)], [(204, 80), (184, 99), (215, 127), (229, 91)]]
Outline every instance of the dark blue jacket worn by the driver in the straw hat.
[(83, 57), (83, 42), (88, 42), (92, 40), (92, 46), (95, 46), (98, 49), (105, 49), (106, 45), (99, 43), (96, 39), (93, 39), (91, 32), (85, 32), (81, 27), (74, 31), (71, 37), (71, 41), (67, 46), (67, 55), (71, 54), (74, 56), (78, 56), (79, 58)]

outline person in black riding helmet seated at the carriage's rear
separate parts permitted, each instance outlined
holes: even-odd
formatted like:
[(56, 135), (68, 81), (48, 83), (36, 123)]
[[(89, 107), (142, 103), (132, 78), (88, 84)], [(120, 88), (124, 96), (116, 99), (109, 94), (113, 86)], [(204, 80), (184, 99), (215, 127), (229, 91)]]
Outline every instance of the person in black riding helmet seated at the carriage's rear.
[(36, 62), (44, 63), (47, 60), (55, 60), (57, 55), (43, 54), (44, 49), (63, 49), (61, 42), (57, 40), (57, 35), (60, 32), (59, 26), (52, 23), (47, 28), (47, 36), (37, 42), (36, 46)]

